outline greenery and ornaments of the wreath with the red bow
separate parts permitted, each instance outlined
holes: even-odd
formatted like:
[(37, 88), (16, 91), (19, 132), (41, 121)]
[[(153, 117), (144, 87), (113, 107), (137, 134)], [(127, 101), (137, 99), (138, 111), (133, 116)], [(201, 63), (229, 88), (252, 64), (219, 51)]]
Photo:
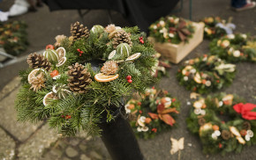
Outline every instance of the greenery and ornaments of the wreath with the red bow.
[[(198, 112), (198, 109), (195, 108), (199, 102), (201, 106), (204, 105), (200, 110), (204, 111), (205, 114)], [(205, 154), (221, 153), (224, 156), (228, 152), (236, 151), (239, 153), (242, 151), (245, 145), (238, 142), (237, 136), (233, 134), (230, 127), (236, 127), (240, 134), (241, 130), (247, 133), (251, 130), (252, 133), (255, 133), (256, 120), (245, 120), (233, 109), (233, 105), (242, 102), (245, 100), (236, 95), (218, 93), (214, 96), (207, 96), (207, 98), (200, 98), (193, 103), (194, 107), (186, 119), (186, 123), (192, 134), (199, 135)], [(219, 128), (216, 129), (214, 126)], [(221, 133), (216, 138), (213, 136), (215, 130)], [(230, 134), (228, 138), (223, 135), (224, 130)], [(255, 136), (252, 136), (249, 141), (246, 140), (245, 135), (240, 137), (248, 146), (256, 143)]]

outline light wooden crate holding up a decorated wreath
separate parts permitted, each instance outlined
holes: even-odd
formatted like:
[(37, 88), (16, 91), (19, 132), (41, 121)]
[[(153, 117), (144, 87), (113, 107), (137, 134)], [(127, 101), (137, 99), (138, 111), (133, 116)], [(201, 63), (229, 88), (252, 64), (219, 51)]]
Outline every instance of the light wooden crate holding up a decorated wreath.
[(156, 42), (154, 38), (149, 37), (148, 39), (154, 43), (154, 49), (161, 53), (161, 55), (169, 60), (169, 62), (178, 63), (186, 55), (191, 53), (191, 51), (197, 47), (204, 37), (204, 24), (203, 23), (192, 23), (195, 26), (195, 33), (187, 43), (181, 42), (180, 44), (172, 43), (160, 43)]

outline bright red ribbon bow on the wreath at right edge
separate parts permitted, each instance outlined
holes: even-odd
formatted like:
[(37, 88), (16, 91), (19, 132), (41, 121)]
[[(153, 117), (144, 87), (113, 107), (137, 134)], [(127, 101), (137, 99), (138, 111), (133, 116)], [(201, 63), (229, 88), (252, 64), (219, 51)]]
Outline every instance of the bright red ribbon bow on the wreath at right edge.
[(239, 103), (234, 105), (233, 108), (237, 113), (241, 113), (245, 120), (256, 120), (256, 112), (252, 112), (252, 109), (256, 108), (256, 105)]

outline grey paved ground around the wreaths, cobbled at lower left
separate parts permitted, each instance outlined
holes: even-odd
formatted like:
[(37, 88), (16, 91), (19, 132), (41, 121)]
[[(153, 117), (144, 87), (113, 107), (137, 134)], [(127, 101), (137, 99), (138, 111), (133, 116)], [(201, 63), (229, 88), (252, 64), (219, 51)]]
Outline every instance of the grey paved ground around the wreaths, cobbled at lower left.
[[(188, 18), (188, 0), (184, 0), (184, 9), (177, 16)], [(13, 0), (3, 0), (0, 9), (7, 11)], [(192, 18), (199, 20), (205, 16), (220, 16), (222, 18), (233, 17), (237, 25), (237, 32), (256, 33), (256, 9), (251, 11), (234, 12), (230, 11), (230, 1), (226, 0), (194, 0), (192, 4)], [(124, 26), (128, 22), (119, 13), (113, 11), (113, 23)], [(70, 25), (80, 21), (77, 11), (54, 11), (49, 12), (48, 7), (43, 6), (37, 12), (30, 12), (19, 18), (25, 20), (28, 25), (28, 40), (30, 46), (23, 55), (43, 49), (46, 45), (55, 42), (58, 34), (69, 35)], [(106, 11), (91, 11), (84, 18), (89, 28), (94, 24), (109, 24)], [(204, 40), (199, 47), (192, 51), (192, 54), (185, 57), (185, 60), (203, 55), (208, 52), (209, 41)], [(20, 56), (23, 56), (20, 55)], [(40, 123), (35, 126), (20, 124), (16, 121), (13, 99), (19, 89), (18, 72), (26, 69), (25, 61), (0, 69), (0, 159), (109, 159), (109, 154), (100, 139), (85, 140), (83, 135), (76, 138), (59, 138), (56, 131), (49, 129), (47, 124)], [(161, 87), (167, 89), (181, 102), (181, 113), (179, 114), (175, 129), (162, 135), (156, 136), (153, 140), (139, 140), (139, 146), (147, 160), (153, 159), (177, 159), (177, 154), (171, 156), (169, 149), (170, 137), (179, 139), (184, 137), (184, 150), (181, 151), (181, 159), (255, 159), (256, 146), (245, 147), (240, 154), (228, 154), (226, 156), (207, 156), (201, 151), (199, 139), (191, 135), (186, 128), (185, 118), (189, 113), (190, 105), (187, 102), (190, 92), (179, 86), (175, 77), (178, 65), (172, 65), (169, 69), (169, 77), (162, 78)], [(230, 87), (222, 91), (236, 93), (244, 97), (248, 102), (256, 103), (256, 72), (255, 64), (237, 64), (237, 76)], [(188, 145), (188, 144), (192, 144)]]

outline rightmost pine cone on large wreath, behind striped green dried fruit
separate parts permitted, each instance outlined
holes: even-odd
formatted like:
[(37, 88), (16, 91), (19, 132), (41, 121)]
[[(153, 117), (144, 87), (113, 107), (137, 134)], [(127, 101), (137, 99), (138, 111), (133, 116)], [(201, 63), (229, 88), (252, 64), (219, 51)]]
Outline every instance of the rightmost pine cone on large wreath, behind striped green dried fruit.
[(127, 43), (130, 47), (132, 47), (131, 33), (125, 33), (124, 30), (118, 31), (112, 41), (113, 47), (117, 48), (117, 46), (121, 43)]

